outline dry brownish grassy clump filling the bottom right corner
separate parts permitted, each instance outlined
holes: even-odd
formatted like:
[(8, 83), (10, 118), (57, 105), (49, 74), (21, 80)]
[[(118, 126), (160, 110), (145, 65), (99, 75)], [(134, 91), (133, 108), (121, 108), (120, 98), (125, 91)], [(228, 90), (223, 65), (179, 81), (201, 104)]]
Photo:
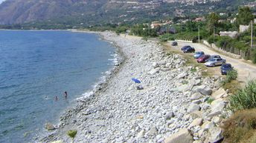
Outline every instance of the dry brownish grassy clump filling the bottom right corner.
[(250, 143), (256, 141), (256, 109), (240, 110), (223, 125), (224, 142)]

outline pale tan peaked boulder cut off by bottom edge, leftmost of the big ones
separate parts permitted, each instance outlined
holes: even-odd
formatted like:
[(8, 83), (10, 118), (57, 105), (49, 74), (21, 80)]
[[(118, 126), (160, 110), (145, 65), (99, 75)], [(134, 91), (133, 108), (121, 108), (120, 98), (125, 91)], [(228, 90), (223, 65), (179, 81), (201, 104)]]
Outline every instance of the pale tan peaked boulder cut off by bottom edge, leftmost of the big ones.
[(164, 139), (164, 143), (193, 143), (193, 136), (188, 129), (180, 129), (179, 132)]

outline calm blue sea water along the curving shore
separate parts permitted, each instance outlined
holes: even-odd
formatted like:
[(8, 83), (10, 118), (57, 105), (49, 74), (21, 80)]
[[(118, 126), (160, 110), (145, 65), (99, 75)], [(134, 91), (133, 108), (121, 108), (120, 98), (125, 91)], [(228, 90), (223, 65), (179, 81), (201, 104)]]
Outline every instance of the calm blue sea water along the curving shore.
[[(0, 30), (0, 142), (33, 142), (111, 69), (115, 47), (92, 33)], [(68, 99), (63, 92), (68, 92)], [(58, 100), (55, 100), (58, 96)]]

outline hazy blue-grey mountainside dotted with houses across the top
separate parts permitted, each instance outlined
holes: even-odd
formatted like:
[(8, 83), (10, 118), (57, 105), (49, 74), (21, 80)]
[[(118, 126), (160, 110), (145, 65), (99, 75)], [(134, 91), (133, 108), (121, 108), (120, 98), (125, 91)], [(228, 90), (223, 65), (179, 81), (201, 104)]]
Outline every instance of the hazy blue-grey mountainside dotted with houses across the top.
[(161, 19), (225, 10), (227, 5), (223, 4), (230, 6), (237, 1), (240, 0), (7, 0), (0, 4), (0, 24), (97, 24)]

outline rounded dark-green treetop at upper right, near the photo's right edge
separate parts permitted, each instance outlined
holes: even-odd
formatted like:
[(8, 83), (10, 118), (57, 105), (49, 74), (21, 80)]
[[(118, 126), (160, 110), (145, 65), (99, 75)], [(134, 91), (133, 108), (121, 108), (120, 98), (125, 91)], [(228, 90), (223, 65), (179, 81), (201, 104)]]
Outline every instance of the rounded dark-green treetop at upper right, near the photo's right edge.
[(247, 25), (252, 21), (253, 15), (249, 7), (240, 7), (237, 15), (237, 24)]

